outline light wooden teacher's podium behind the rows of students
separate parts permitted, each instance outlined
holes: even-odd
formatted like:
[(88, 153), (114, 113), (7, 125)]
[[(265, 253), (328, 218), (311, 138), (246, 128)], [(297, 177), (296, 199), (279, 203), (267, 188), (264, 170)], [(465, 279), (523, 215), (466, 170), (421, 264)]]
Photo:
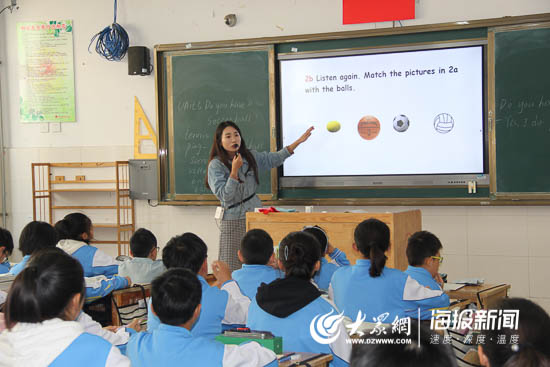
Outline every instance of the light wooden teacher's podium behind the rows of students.
[(369, 218), (376, 218), (390, 228), (386, 266), (405, 270), (408, 266), (407, 239), (422, 230), (420, 210), (396, 213), (246, 213), (246, 230), (263, 229), (271, 235), (273, 243), (278, 244), (289, 232), (318, 225), (327, 232), (330, 243), (344, 251), (355, 264), (359, 254), (353, 251), (353, 231), (357, 224)]

